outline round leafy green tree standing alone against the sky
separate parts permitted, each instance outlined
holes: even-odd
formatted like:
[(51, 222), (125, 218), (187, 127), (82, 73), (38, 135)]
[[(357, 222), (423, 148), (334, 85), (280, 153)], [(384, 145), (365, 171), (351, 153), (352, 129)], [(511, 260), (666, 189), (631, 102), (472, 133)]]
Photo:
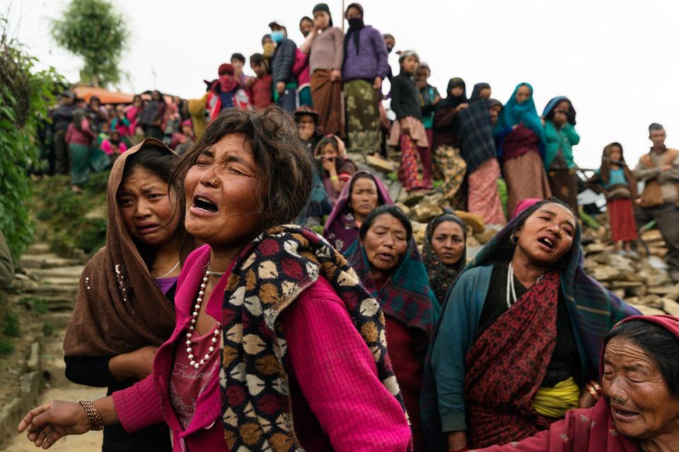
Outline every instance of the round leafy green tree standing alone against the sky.
[(81, 81), (93, 86), (120, 82), (118, 67), (128, 32), (108, 0), (71, 0), (62, 18), (52, 20), (54, 41), (83, 58)]

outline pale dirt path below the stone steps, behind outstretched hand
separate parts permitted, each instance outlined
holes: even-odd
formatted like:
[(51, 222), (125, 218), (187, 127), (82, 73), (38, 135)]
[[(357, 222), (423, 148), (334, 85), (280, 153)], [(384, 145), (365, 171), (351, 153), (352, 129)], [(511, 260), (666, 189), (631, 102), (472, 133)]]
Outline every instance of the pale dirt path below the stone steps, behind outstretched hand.
[[(68, 383), (59, 388), (48, 389), (42, 393), (40, 403), (47, 403), (50, 400), (95, 400), (106, 395), (106, 388), (90, 388), (86, 386)], [(88, 432), (84, 435), (66, 436), (59, 439), (50, 451), (54, 452), (97, 452), (101, 450), (102, 432)], [(33, 443), (28, 441), (26, 434), (17, 434), (5, 446), (6, 452), (35, 452), (42, 449), (36, 448)]]

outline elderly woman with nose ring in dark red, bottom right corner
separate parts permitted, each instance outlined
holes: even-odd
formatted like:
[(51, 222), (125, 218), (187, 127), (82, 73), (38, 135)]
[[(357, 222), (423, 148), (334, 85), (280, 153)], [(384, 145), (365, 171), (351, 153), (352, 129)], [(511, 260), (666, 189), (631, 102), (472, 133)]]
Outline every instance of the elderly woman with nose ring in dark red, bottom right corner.
[(675, 451), (679, 444), (679, 318), (632, 316), (606, 338), (603, 393), (593, 408), (523, 441), (477, 452)]

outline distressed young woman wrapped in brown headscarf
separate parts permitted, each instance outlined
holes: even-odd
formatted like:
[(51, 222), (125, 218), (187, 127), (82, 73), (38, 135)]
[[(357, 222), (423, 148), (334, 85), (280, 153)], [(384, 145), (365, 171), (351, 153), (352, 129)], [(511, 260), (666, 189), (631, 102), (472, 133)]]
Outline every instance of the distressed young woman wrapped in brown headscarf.
[[(195, 247), (183, 226), (183, 196), (168, 181), (179, 157), (153, 138), (122, 154), (108, 180), (106, 246), (85, 266), (64, 340), (66, 377), (108, 393), (151, 373), (175, 326), (182, 262)], [(134, 434), (104, 429), (103, 451), (170, 451), (165, 424)]]

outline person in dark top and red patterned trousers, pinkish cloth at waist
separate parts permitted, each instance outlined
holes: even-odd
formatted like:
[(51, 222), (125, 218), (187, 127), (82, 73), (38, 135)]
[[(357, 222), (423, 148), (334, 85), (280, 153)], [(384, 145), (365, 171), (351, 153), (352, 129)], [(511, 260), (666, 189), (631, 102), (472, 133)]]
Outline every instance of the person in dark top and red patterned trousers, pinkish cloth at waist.
[[(414, 51), (406, 50), (401, 52), (398, 62), (401, 71), (394, 77), (391, 86), (391, 109), (396, 114), (396, 120), (392, 124), (388, 144), (400, 146), (401, 164), (398, 175), (405, 191), (432, 189), (431, 153), (422, 124), (419, 90), (414, 77), (419, 66), (419, 57)], [(422, 180), (419, 179), (417, 169), (416, 149), (422, 161)]]

